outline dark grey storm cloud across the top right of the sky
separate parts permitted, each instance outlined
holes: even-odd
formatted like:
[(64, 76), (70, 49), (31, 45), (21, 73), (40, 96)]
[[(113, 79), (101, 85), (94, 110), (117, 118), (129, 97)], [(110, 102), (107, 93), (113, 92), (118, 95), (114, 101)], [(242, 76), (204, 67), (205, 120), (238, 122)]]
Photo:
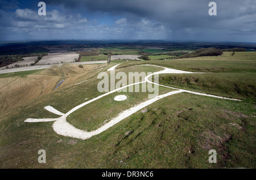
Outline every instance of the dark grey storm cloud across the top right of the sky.
[[(217, 16), (209, 16), (207, 0), (57, 0), (46, 1), (49, 4), (64, 5), (67, 8), (86, 8), (89, 12), (107, 12), (113, 15), (124, 15), (128, 20), (147, 18), (163, 23), (168, 28), (216, 28), (228, 30), (226, 21), (230, 20), (230, 28), (240, 26), (243, 20), (255, 23), (255, 0), (215, 0), (217, 3)], [(129, 15), (130, 14), (130, 15)], [(243, 18), (244, 17), (244, 18)], [(240, 28), (237, 28), (237, 30)]]

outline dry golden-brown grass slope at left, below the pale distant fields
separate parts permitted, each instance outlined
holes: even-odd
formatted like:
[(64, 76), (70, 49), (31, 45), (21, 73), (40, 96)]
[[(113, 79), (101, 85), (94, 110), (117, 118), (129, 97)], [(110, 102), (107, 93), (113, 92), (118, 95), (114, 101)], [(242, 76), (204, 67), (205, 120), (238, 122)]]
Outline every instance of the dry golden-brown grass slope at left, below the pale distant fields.
[(95, 76), (95, 71), (92, 69), (97, 66), (84, 65), (84, 68), (79, 68), (78, 65), (73, 64), (55, 65), (26, 77), (0, 78), (0, 112), (51, 93), (62, 79), (65, 81), (58, 90), (91, 78)]

